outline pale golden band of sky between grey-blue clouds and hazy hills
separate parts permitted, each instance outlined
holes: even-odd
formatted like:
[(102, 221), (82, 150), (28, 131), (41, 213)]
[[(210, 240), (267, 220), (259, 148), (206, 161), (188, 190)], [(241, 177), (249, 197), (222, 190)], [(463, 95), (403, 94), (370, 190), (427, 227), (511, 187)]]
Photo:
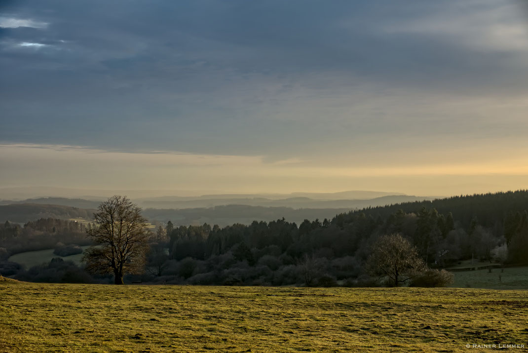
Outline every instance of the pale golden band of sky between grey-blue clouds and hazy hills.
[[(493, 156), (484, 162), (446, 159), (442, 163), (422, 165), (377, 163), (371, 166), (357, 160), (354, 165), (328, 166), (307, 161), (270, 164), (260, 156), (129, 153), (83, 146), (3, 144), (0, 164), (8, 168), (2, 170), (0, 183), (4, 187), (195, 190), (197, 193), (204, 190), (277, 193), (385, 189), (450, 195), (524, 188), (528, 177), (526, 155), (526, 151), (520, 151), (502, 160)], [(378, 159), (381, 161), (379, 156)]]

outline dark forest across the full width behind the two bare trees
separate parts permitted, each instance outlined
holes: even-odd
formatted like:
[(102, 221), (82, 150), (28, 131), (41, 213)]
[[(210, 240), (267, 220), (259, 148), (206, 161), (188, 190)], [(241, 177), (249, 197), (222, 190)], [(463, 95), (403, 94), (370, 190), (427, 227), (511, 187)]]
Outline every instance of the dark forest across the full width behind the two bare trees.
[[(178, 226), (169, 221), (150, 236), (143, 274), (129, 275), (125, 281), (380, 285), (366, 263), (376, 240), (387, 234), (407, 239), (430, 268), (465, 259), (526, 265), (527, 209), (528, 191), (520, 190), (371, 207), (298, 225), (285, 218), (226, 227)], [(43, 219), (24, 227), (6, 222), (0, 226), (0, 271), (11, 268), (9, 275), (27, 281), (108, 282), (108, 276), (89, 275), (82, 265), (78, 268), (62, 259), (16, 271), (6, 261), (22, 248), (86, 245), (85, 233), (83, 225), (71, 221)], [(44, 272), (53, 275), (42, 276)], [(76, 279), (72, 273), (82, 275)]]

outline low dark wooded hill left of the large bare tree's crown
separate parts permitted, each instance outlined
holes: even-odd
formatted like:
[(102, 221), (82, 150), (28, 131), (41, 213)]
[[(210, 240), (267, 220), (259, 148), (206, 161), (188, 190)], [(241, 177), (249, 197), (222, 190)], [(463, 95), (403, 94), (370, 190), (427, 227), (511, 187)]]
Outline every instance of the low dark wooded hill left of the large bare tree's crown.
[(0, 220), (25, 223), (39, 218), (84, 218), (91, 219), (95, 209), (84, 209), (61, 205), (39, 205), (37, 203), (21, 203), (0, 206)]

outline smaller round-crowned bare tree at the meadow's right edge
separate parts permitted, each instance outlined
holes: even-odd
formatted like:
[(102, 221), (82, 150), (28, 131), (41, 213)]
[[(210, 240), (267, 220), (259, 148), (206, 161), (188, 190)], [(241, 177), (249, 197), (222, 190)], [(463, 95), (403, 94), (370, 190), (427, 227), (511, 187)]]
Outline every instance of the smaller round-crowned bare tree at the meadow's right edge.
[(389, 277), (398, 286), (427, 269), (418, 251), (399, 234), (384, 235), (374, 244), (367, 268), (372, 275)]

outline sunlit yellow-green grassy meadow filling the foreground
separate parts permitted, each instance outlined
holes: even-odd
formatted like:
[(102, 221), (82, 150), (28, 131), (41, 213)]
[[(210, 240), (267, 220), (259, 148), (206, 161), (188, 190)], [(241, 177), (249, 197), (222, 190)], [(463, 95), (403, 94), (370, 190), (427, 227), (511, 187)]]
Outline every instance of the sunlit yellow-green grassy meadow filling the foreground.
[[(482, 351), (528, 343), (526, 291), (0, 282), (6, 351)], [(516, 349), (522, 351), (524, 349)]]

